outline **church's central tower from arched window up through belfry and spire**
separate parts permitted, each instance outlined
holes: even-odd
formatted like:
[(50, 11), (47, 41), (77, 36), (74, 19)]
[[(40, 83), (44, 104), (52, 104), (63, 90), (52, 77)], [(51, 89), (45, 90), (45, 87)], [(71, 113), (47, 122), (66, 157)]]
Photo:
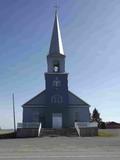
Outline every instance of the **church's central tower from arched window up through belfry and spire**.
[(48, 105), (67, 105), (68, 73), (65, 72), (65, 54), (57, 12), (55, 12), (51, 43), (47, 55), (47, 73), (45, 73), (45, 81)]

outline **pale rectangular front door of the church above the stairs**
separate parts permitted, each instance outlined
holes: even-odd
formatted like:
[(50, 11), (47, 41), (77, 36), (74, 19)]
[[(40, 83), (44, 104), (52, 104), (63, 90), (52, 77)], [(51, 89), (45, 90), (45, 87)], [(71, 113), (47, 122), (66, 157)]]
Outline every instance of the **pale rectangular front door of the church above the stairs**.
[(62, 128), (62, 113), (52, 114), (52, 128)]

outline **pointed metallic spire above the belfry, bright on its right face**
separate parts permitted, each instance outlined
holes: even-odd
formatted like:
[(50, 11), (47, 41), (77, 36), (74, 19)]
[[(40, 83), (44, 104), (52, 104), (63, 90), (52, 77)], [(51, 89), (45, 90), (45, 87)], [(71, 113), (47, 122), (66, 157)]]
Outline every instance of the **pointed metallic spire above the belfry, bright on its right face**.
[(54, 20), (54, 27), (52, 32), (49, 54), (64, 55), (57, 10), (55, 11), (55, 20)]

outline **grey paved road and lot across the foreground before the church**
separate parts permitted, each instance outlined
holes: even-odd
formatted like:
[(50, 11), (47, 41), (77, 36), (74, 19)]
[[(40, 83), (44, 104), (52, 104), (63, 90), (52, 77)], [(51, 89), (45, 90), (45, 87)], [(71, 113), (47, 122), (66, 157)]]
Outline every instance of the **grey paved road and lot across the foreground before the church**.
[(0, 140), (0, 160), (120, 160), (120, 137)]

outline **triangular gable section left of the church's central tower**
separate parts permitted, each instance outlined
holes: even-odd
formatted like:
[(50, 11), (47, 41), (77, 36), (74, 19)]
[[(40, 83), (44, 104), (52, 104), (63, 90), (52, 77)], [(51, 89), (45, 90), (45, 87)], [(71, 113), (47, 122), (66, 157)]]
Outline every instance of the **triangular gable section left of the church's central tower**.
[(24, 107), (26, 105), (46, 105), (45, 90), (33, 97), (32, 99), (30, 99), (29, 101), (27, 101), (22, 106)]

